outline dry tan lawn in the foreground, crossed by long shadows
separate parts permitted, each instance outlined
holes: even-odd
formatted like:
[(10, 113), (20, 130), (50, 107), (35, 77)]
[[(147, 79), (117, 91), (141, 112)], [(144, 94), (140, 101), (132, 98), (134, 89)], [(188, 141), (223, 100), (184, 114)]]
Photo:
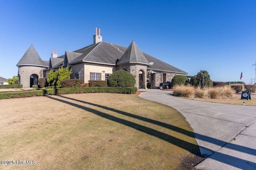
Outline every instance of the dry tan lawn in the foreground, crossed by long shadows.
[(199, 151), (177, 110), (128, 94), (0, 100), (3, 169), (175, 169)]

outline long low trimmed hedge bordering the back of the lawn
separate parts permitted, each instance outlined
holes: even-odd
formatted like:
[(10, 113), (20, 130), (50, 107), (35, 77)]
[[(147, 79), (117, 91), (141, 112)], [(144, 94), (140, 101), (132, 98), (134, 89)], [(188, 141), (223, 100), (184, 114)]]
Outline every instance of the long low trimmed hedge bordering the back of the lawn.
[(70, 94), (70, 93), (123, 93), (123, 94), (135, 94), (136, 87), (120, 88), (120, 87), (79, 87), (79, 88), (55, 88), (55, 89), (39, 89), (39, 90), (26, 90), (18, 92), (4, 92), (0, 93), (0, 99), (8, 98), (24, 98), (30, 96), (44, 96), (46, 94)]

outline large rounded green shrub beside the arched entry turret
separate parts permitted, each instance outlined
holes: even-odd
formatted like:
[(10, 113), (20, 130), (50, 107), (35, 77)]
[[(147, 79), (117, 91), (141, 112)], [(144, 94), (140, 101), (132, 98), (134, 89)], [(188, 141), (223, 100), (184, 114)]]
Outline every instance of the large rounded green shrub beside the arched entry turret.
[(135, 83), (134, 76), (125, 70), (117, 70), (108, 78), (109, 87), (134, 87)]

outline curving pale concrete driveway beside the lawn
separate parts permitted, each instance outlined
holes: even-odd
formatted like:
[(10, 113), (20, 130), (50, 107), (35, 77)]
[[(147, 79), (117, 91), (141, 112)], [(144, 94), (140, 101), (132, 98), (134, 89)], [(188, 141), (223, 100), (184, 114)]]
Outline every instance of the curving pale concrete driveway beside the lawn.
[(256, 169), (256, 107), (186, 100), (170, 91), (147, 89), (141, 98), (174, 107), (193, 128), (202, 170)]

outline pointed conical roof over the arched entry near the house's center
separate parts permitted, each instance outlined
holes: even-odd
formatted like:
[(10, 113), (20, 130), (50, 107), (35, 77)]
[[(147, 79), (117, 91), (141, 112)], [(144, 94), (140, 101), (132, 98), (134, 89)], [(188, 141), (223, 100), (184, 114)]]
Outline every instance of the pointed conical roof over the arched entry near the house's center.
[(139, 63), (148, 65), (149, 62), (143, 53), (140, 51), (139, 47), (134, 41), (129, 45), (121, 59), (118, 61), (118, 65), (126, 63)]

